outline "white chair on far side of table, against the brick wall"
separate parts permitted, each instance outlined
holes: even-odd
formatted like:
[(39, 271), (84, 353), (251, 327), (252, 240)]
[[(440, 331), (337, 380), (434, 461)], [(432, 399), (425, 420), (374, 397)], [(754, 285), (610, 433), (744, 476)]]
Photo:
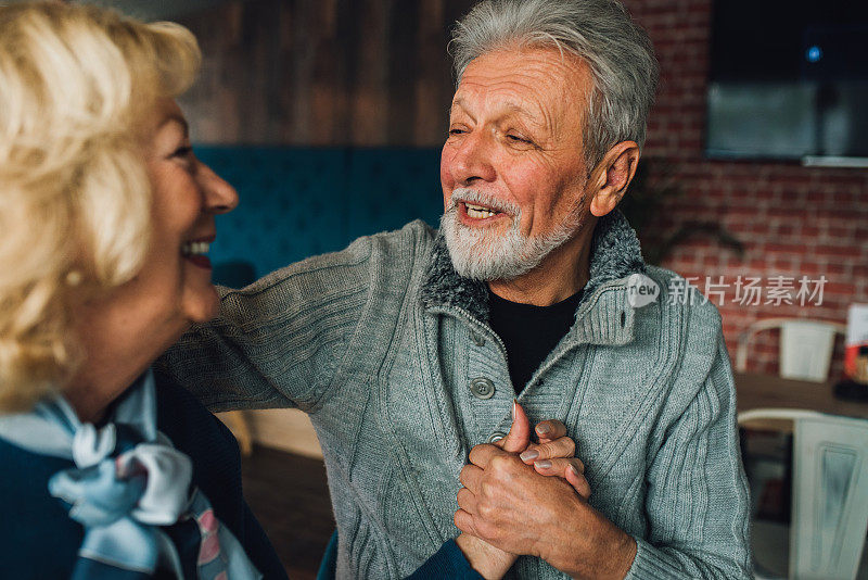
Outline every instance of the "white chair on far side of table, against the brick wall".
[(736, 350), (736, 370), (748, 368), (748, 345), (758, 332), (780, 329), (780, 376), (787, 379), (826, 381), (832, 357), (834, 336), (844, 335), (840, 323), (805, 320), (803, 318), (766, 318), (757, 320), (739, 335)]

